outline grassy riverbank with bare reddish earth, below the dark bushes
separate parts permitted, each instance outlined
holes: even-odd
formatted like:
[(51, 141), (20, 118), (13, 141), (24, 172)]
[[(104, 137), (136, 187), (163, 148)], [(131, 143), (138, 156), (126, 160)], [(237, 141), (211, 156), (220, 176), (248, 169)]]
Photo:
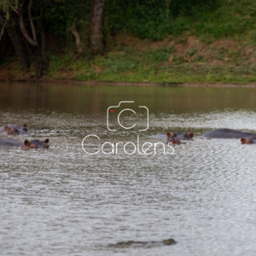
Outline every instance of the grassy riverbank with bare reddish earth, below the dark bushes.
[[(49, 55), (43, 79), (160, 84), (250, 84), (256, 82), (254, 45), (232, 39), (202, 43), (183, 35), (150, 42), (128, 36), (115, 38), (116, 46), (103, 56), (75, 59), (72, 53)], [(24, 75), (15, 59), (1, 66), (0, 79), (33, 79)]]

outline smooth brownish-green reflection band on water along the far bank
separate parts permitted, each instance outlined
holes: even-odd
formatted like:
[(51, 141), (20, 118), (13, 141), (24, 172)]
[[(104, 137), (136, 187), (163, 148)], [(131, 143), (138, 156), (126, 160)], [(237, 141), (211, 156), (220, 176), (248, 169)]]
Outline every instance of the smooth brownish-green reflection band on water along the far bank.
[(113, 102), (135, 101), (151, 113), (192, 113), (207, 109), (254, 109), (255, 89), (96, 86), (83, 84), (1, 84), (1, 105), (40, 112), (100, 113)]

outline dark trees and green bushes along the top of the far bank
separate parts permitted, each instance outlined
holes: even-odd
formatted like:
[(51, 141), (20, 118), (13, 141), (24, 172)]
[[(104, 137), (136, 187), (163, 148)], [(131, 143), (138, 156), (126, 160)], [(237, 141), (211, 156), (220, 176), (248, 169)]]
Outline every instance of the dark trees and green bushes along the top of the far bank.
[[(6, 25), (18, 59), (26, 64), (29, 55), (40, 79), (48, 66), (46, 34), (52, 33), (65, 42), (73, 40), (80, 56), (85, 46), (99, 54), (107, 35), (127, 32), (138, 38), (160, 40), (166, 34), (184, 32), (202, 13), (216, 9), (218, 1), (0, 0), (0, 38)], [(25, 64), (21, 66), (26, 71)]]

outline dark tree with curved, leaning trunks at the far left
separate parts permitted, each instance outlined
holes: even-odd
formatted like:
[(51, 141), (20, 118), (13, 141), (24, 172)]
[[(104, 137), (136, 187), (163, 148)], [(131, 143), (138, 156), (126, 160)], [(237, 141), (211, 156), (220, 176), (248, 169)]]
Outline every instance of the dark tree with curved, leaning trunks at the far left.
[[(24, 9), (27, 6), (27, 11)], [(5, 13), (7, 24), (5, 30), (15, 48), (15, 53), (20, 61), (24, 72), (28, 71), (29, 64), (26, 50), (31, 56), (35, 66), (36, 79), (41, 79), (44, 74), (44, 68), (48, 67), (48, 61), (45, 55), (45, 30), (44, 30), (44, 9), (49, 5), (49, 0), (10, 0), (0, 6), (2, 13)], [(38, 15), (32, 19), (32, 6)], [(29, 32), (24, 22), (24, 14), (28, 17)], [(37, 31), (41, 33), (41, 42), (39, 44), (35, 29), (34, 20), (37, 25)], [(19, 25), (19, 27), (17, 26)], [(26, 45), (24, 49), (23, 43)]]

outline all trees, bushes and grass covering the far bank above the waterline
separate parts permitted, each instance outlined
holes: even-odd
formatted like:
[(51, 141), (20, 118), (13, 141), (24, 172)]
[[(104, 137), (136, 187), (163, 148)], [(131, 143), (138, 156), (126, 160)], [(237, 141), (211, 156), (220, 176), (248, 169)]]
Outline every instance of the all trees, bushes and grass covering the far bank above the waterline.
[(0, 65), (13, 78), (249, 83), (255, 21), (253, 0), (0, 1)]

